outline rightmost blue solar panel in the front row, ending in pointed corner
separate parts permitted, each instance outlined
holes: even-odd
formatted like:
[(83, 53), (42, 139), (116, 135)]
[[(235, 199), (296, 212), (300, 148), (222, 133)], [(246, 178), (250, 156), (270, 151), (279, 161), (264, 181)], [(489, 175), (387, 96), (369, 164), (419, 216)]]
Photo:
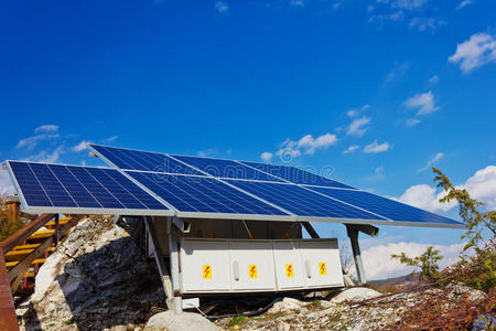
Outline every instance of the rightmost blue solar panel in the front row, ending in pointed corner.
[(310, 189), (397, 222), (462, 225), (460, 222), (364, 191), (327, 188)]

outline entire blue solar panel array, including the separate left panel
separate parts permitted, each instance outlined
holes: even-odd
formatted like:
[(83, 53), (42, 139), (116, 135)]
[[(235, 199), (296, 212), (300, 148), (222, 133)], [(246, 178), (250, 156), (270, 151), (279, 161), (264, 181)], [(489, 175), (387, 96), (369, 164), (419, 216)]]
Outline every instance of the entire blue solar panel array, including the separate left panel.
[(90, 149), (117, 169), (10, 161), (25, 204), (180, 217), (463, 225), (294, 167)]

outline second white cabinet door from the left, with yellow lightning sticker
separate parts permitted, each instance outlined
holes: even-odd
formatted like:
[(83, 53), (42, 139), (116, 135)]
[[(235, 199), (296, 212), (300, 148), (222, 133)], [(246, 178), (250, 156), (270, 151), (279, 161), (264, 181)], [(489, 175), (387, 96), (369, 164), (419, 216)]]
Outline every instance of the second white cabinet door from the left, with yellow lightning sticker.
[(276, 289), (271, 242), (229, 243), (234, 290)]

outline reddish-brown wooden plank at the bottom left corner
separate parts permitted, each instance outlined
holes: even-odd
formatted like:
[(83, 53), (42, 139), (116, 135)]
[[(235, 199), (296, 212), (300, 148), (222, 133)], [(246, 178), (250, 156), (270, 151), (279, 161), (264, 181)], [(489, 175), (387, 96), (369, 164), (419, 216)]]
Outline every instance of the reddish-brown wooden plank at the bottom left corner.
[(19, 330), (3, 250), (0, 248), (0, 330)]

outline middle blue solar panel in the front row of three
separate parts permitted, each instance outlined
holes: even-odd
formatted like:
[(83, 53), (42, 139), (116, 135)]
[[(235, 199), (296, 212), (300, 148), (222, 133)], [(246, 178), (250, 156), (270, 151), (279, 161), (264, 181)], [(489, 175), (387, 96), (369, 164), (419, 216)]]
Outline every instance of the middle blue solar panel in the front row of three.
[(385, 220), (293, 184), (228, 182), (300, 216)]

